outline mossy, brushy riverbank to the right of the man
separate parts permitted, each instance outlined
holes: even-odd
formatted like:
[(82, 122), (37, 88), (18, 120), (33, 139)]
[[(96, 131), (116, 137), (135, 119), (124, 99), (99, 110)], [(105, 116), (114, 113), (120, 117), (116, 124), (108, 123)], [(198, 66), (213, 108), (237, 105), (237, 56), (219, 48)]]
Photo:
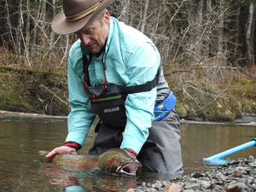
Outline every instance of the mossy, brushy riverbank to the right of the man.
[[(172, 83), (173, 84), (173, 83)], [(195, 85), (199, 88), (199, 84)], [(190, 89), (186, 96), (183, 91), (175, 92), (177, 96), (177, 113), (181, 118), (202, 118), (211, 121), (234, 121), (241, 118), (242, 113), (256, 113), (256, 80), (237, 78), (232, 84), (228, 81), (216, 84), (223, 96), (216, 96), (216, 90)], [(228, 87), (228, 89), (227, 89)], [(195, 102), (195, 98), (198, 102)]]

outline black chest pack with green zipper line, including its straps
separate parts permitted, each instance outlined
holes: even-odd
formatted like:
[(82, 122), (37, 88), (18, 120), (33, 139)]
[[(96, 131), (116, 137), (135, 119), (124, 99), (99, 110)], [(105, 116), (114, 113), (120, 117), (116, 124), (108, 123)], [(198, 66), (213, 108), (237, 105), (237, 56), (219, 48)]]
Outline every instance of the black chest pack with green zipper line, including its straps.
[(160, 68), (154, 79), (146, 82), (145, 84), (134, 86), (108, 84), (105, 56), (106, 55), (104, 53), (102, 56), (102, 64), (105, 74), (105, 82), (103, 85), (91, 86), (88, 67), (90, 65), (92, 55), (89, 56), (89, 59), (86, 55), (83, 55), (83, 87), (84, 93), (90, 97), (87, 110), (91, 113), (98, 114), (102, 123), (113, 127), (114, 129), (125, 129), (127, 119), (125, 114), (126, 96), (132, 93), (149, 91), (156, 87)]

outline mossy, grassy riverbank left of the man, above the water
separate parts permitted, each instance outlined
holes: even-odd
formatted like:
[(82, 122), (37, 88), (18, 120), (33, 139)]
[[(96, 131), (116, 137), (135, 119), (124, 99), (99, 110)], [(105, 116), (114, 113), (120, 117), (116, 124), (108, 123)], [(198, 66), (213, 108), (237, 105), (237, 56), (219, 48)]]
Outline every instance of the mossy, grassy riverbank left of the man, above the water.
[(55, 115), (69, 113), (67, 77), (0, 66), (0, 79), (0, 108), (3, 110)]

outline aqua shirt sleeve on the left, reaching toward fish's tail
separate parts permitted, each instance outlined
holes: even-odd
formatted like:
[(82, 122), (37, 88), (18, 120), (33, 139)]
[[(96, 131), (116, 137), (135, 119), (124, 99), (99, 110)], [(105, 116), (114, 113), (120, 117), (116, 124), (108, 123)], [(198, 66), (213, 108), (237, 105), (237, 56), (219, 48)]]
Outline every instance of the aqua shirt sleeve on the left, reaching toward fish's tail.
[[(79, 48), (77, 48), (79, 49)], [(89, 97), (85, 95), (83, 88), (83, 67), (81, 53), (70, 50), (67, 67), (67, 83), (71, 112), (68, 115), (68, 134), (66, 142), (84, 144), (85, 137), (90, 130), (90, 125), (95, 119), (95, 113), (86, 110)]]

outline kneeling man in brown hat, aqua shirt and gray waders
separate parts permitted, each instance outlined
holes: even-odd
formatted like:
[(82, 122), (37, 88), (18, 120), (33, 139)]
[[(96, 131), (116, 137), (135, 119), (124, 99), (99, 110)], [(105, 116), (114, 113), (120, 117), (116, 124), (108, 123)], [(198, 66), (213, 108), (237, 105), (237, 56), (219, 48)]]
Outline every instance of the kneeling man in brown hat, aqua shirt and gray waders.
[(122, 148), (145, 170), (183, 172), (176, 98), (164, 79), (160, 54), (143, 33), (109, 15), (112, 2), (63, 0), (63, 12), (52, 20), (55, 32), (75, 32), (79, 40), (68, 57), (67, 139), (46, 157), (79, 150), (98, 114), (89, 154)]

